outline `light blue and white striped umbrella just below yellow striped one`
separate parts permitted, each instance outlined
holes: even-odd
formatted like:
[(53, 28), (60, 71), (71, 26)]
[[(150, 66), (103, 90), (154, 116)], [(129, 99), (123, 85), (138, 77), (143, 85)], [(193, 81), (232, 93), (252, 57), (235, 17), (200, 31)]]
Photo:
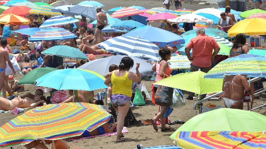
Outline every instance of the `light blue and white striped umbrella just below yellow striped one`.
[(79, 22), (78, 19), (75, 19), (70, 16), (55, 16), (50, 17), (48, 20), (45, 20), (44, 23), (40, 26), (41, 28), (51, 27), (51, 26), (60, 26), (60, 25), (66, 25), (71, 23)]

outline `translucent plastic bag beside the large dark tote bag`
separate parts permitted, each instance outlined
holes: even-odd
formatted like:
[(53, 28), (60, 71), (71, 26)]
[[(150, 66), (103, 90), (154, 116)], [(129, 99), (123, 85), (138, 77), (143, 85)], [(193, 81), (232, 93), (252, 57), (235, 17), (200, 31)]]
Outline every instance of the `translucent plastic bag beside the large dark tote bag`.
[(170, 105), (171, 108), (180, 108), (186, 105), (186, 101), (183, 98), (183, 94), (179, 89), (174, 88), (173, 91), (173, 104)]

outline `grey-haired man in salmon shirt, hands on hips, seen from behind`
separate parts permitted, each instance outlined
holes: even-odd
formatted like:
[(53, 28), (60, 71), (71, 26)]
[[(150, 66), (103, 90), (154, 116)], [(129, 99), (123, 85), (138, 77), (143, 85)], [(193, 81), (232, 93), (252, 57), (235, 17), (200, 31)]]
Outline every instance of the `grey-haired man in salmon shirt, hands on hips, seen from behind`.
[[(205, 34), (204, 28), (197, 29), (197, 36), (190, 39), (190, 42), (187, 44), (185, 51), (187, 58), (192, 62), (190, 64), (190, 72), (200, 71), (207, 73), (212, 69), (211, 65), (214, 60), (214, 57), (220, 51), (220, 47), (217, 42)], [(190, 50), (193, 48), (192, 57), (190, 56)], [(212, 53), (212, 50), (214, 52)], [(187, 99), (193, 100), (194, 93), (190, 92)], [(202, 98), (205, 98), (206, 95), (202, 95)]]

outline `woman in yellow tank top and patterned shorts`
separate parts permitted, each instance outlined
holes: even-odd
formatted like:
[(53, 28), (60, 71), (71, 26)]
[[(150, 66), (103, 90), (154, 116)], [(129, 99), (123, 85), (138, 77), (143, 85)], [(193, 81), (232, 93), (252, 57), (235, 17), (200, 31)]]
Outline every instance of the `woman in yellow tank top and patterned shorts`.
[(133, 65), (134, 61), (130, 57), (123, 57), (119, 64), (119, 70), (113, 71), (104, 81), (105, 85), (109, 85), (110, 82), (112, 83), (111, 104), (117, 113), (116, 142), (124, 141), (122, 139), (124, 137), (122, 129), (131, 101), (132, 83), (141, 81), (141, 75), (138, 70), (139, 63), (137, 63), (136, 73), (128, 72)]

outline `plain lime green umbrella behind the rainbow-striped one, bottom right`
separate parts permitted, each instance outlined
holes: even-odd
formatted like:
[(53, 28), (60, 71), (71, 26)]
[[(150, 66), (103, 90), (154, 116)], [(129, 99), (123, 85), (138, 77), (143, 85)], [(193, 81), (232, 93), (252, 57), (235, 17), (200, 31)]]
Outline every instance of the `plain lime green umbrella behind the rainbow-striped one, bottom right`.
[(247, 110), (220, 108), (194, 116), (171, 136), (180, 131), (242, 131), (261, 132), (266, 130), (266, 116)]

